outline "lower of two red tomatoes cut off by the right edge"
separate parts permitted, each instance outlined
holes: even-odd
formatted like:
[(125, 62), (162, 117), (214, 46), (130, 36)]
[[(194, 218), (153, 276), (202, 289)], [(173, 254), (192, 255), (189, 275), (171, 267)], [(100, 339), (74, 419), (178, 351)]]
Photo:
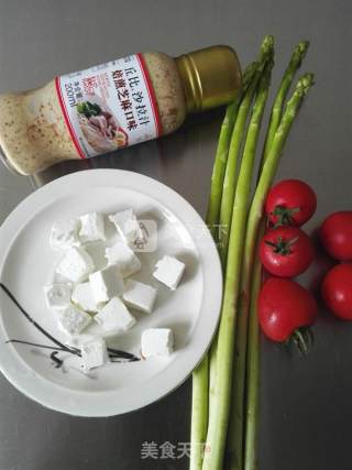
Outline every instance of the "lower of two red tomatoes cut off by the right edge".
[(321, 296), (334, 315), (352, 320), (352, 263), (338, 264), (328, 272)]

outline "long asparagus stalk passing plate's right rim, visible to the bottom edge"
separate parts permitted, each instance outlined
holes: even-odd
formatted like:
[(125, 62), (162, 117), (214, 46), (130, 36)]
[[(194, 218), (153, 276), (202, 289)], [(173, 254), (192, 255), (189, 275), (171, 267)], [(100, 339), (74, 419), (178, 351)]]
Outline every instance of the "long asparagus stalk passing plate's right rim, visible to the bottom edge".
[[(272, 50), (273, 54), (273, 50)], [(270, 61), (271, 62), (271, 61)], [(234, 195), (232, 230), (229, 240), (224, 296), (218, 337), (217, 386), (215, 391), (215, 412), (210, 415), (204, 470), (221, 470), (229, 422), (232, 383), (232, 360), (237, 316), (237, 297), (240, 287), (240, 271), (244, 243), (248, 206), (255, 161), (258, 130), (267, 99), (272, 64), (261, 78), (256, 94), (249, 131), (245, 139), (243, 159)]]

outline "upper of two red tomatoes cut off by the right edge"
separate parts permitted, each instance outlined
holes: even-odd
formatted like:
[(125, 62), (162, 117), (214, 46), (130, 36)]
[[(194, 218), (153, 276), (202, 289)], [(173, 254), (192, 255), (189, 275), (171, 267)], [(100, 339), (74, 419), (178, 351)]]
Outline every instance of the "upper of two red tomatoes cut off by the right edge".
[(352, 210), (331, 214), (320, 227), (321, 242), (339, 261), (352, 261)]

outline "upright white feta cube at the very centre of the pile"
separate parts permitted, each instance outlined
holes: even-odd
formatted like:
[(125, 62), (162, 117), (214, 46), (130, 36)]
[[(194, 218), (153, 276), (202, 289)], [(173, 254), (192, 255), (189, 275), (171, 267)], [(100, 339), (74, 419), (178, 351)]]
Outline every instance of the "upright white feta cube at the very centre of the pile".
[(123, 280), (116, 264), (90, 274), (89, 282), (97, 303), (108, 302), (124, 291)]

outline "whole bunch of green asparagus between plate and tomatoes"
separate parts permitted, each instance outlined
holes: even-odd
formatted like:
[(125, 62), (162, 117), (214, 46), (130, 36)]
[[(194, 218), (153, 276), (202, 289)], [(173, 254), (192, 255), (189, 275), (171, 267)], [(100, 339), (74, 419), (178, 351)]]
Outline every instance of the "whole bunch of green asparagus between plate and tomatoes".
[[(256, 244), (263, 206), (288, 133), (314, 84), (305, 74), (285, 105), (308, 42), (294, 50), (276, 94), (260, 170), (255, 156), (274, 65), (266, 36), (257, 62), (243, 75), (243, 89), (226, 112), (215, 160), (207, 223), (218, 243), (224, 293), (218, 334), (194, 372), (191, 470), (254, 470), (257, 453), (260, 345), (256, 298), (261, 264)], [(256, 181), (255, 189), (253, 181)], [(221, 231), (218, 232), (217, 228)]]

